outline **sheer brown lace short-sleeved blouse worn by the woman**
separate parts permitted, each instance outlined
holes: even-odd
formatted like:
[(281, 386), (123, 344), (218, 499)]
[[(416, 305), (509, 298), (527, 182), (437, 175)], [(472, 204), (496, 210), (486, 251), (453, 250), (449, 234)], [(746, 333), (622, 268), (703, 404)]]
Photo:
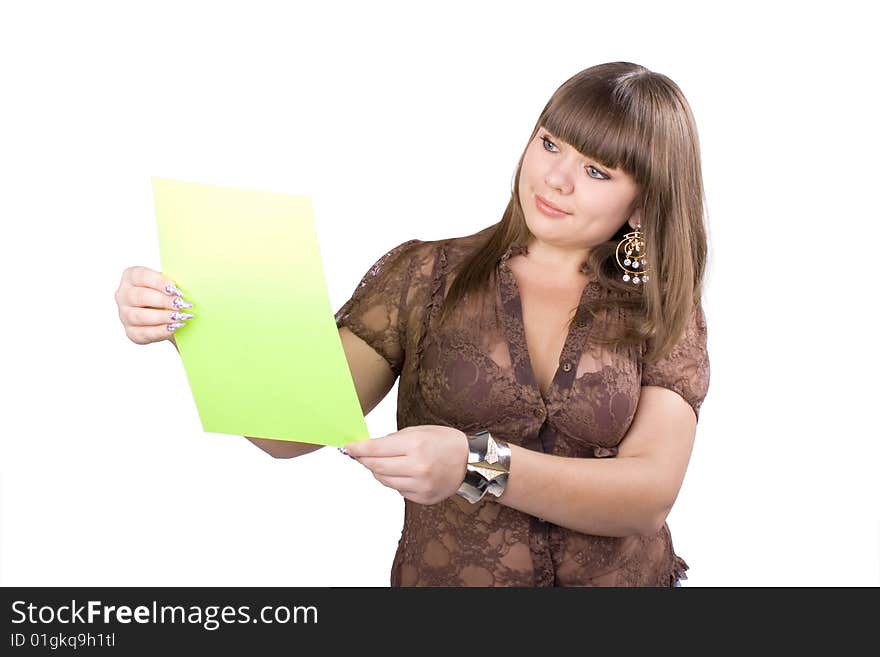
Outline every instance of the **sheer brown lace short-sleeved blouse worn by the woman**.
[[(488, 429), (547, 454), (613, 458), (644, 385), (674, 390), (699, 419), (709, 386), (702, 305), (675, 350), (651, 366), (641, 362), (644, 347), (591, 347), (591, 332), (600, 330), (593, 324), (601, 324), (603, 314), (594, 320), (579, 313), (586, 319), (572, 324), (546, 398), (532, 372), (517, 285), (507, 266), (512, 255), (527, 252), (525, 246), (513, 245), (499, 261), (488, 320), (481, 315), (471, 330), (437, 330), (457, 266), (491, 228), (399, 244), (336, 312), (337, 326), (348, 326), (400, 377), (398, 430), (420, 424), (468, 433)], [(603, 293), (591, 280), (580, 304)], [(391, 586), (674, 586), (687, 568), (665, 523), (652, 536), (594, 536), (504, 506), (491, 495), (476, 504), (452, 495), (433, 505), (405, 500)]]

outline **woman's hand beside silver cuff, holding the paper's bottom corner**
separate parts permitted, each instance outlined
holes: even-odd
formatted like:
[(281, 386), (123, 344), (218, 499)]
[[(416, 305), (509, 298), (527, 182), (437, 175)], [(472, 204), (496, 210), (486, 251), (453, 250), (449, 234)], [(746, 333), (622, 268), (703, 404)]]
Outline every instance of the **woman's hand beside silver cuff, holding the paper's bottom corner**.
[(467, 470), (465, 433), (436, 424), (405, 427), (344, 449), (380, 483), (419, 504), (436, 504), (454, 495)]

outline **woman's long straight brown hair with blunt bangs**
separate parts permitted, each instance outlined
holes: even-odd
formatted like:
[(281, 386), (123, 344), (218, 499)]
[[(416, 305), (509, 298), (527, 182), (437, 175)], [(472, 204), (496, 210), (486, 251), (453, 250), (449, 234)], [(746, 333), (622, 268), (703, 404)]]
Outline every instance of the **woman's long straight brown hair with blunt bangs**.
[[(594, 317), (600, 310), (617, 309), (604, 313), (606, 332), (594, 332), (591, 339), (607, 346), (649, 341), (652, 348), (644, 360), (664, 357), (700, 301), (707, 252), (699, 140), (684, 94), (668, 77), (644, 66), (599, 64), (556, 90), (527, 143), (541, 126), (584, 156), (635, 180), (639, 191), (632, 207), (642, 209), (650, 275), (640, 285), (621, 280), (615, 253), (624, 234), (633, 230), (628, 222), (611, 240), (591, 248), (584, 264), (610, 293), (587, 309)], [(501, 221), (459, 268), (442, 305), (441, 323), (465, 299), (485, 296), (501, 256), (532, 237), (519, 198), (524, 157), (525, 149)]]

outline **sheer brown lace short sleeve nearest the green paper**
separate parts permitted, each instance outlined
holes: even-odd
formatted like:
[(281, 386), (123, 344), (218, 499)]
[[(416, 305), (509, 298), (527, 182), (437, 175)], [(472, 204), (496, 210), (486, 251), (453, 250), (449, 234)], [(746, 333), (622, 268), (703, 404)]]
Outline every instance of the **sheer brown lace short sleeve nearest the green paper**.
[(379, 258), (335, 314), (336, 327), (347, 326), (370, 345), (388, 362), (395, 376), (403, 369), (412, 254), (420, 243), (417, 239), (407, 240)]

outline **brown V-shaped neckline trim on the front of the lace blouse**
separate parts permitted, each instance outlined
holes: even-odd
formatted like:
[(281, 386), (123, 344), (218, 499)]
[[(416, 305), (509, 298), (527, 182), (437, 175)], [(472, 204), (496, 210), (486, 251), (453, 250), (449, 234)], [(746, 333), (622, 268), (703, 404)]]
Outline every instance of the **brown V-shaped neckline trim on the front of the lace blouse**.
[(599, 284), (595, 280), (589, 280), (581, 291), (575, 317), (566, 329), (565, 340), (563, 341), (562, 351), (559, 353), (556, 370), (545, 395), (545, 393), (541, 392), (541, 386), (538, 383), (538, 377), (532, 364), (532, 356), (529, 352), (519, 285), (516, 282), (513, 270), (510, 269), (507, 263), (507, 260), (512, 255), (523, 252), (527, 252), (526, 247), (515, 245), (508, 249), (508, 252), (499, 262), (500, 280), (503, 286), (501, 290), (501, 305), (506, 314), (504, 330), (507, 333), (507, 341), (517, 381), (532, 390), (536, 395), (536, 399), (540, 399), (544, 405), (551, 405), (554, 393), (568, 389), (574, 381), (577, 361), (580, 359), (581, 350), (583, 349), (583, 339), (586, 337), (586, 333), (592, 324), (592, 316), (589, 313), (582, 313), (581, 308), (587, 303), (588, 298), (592, 298), (595, 295)]

